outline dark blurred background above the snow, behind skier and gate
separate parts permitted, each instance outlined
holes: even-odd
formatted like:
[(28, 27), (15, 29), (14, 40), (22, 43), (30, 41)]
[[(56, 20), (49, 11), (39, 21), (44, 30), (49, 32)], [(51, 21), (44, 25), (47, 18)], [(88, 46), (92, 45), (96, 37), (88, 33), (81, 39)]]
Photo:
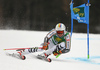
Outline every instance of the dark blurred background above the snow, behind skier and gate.
[[(49, 31), (62, 22), (71, 31), (71, 0), (0, 0), (0, 30)], [(100, 33), (99, 0), (90, 0), (90, 33)], [(74, 0), (74, 7), (87, 0)], [(87, 25), (74, 20), (73, 32), (86, 33)]]

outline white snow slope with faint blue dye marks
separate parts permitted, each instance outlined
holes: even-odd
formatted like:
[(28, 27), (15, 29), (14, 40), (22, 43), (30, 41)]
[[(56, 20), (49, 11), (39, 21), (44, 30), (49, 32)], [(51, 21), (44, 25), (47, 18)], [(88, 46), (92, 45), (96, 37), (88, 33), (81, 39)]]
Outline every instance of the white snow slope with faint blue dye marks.
[(0, 30), (0, 70), (100, 70), (100, 34), (90, 34), (90, 59), (87, 59), (87, 34), (73, 33), (71, 51), (52, 62), (36, 58), (36, 52), (26, 55), (26, 60), (7, 56), (6, 48), (39, 46), (48, 31)]

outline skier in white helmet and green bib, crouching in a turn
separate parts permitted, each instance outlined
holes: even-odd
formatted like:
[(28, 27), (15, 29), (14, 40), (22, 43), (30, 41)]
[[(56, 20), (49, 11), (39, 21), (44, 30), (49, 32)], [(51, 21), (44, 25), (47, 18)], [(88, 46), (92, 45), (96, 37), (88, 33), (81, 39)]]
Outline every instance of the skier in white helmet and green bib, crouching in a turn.
[[(20, 55), (23, 53), (33, 53), (41, 50), (45, 50), (39, 55), (39, 57), (47, 58), (50, 54), (58, 56), (59, 54), (68, 53), (70, 51), (70, 34), (66, 31), (66, 27), (63, 23), (58, 23), (55, 29), (52, 29), (44, 38), (42, 49), (38, 47), (24, 49), (18, 52)], [(23, 56), (23, 59), (25, 57)]]

